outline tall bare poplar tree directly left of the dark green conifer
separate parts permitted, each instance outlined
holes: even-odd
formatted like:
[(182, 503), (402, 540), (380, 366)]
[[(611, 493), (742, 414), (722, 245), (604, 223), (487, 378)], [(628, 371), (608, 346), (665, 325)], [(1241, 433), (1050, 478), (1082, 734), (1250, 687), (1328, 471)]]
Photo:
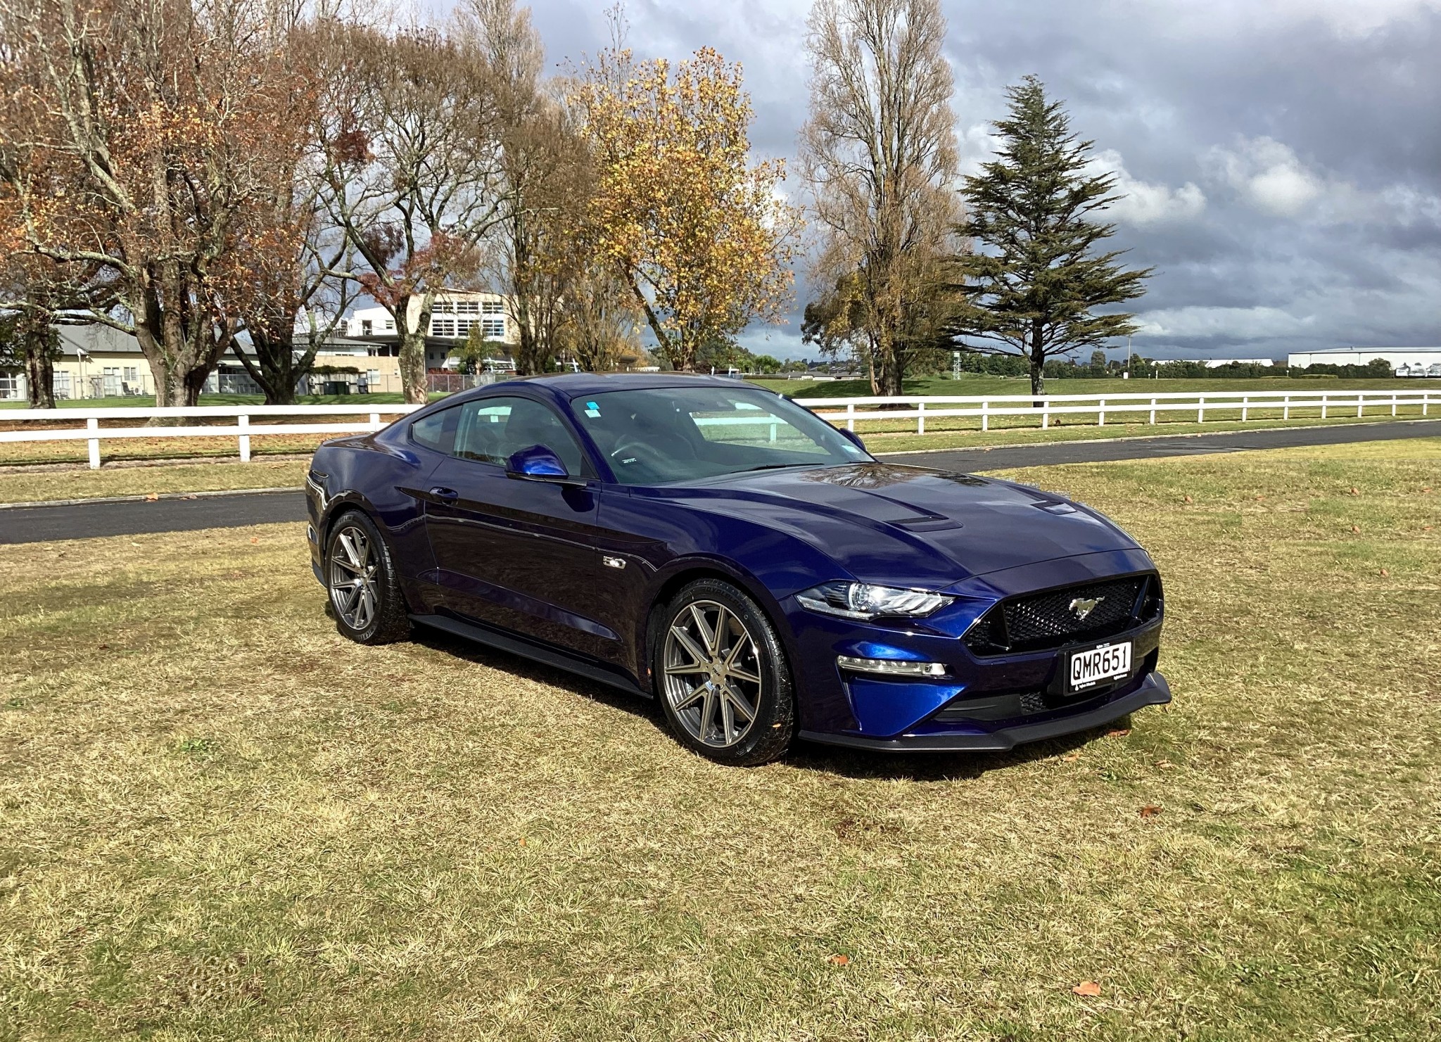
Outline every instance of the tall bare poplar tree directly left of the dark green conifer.
[[(940, 270), (960, 212), (951, 71), (940, 0), (817, 0), (800, 166), (820, 236), (810, 319), (862, 347), (876, 393), (899, 395), (931, 349)], [(837, 327), (840, 323), (842, 327)]]

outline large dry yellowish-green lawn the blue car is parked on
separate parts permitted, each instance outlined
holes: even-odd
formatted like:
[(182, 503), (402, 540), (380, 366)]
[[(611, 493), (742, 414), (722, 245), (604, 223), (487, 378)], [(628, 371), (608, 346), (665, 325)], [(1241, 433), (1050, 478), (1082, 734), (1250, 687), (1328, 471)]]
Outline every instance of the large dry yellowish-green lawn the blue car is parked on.
[(0, 1036), (1441, 1035), (1441, 440), (1019, 477), (1167, 578), (1130, 732), (726, 770), (298, 525), (6, 548)]

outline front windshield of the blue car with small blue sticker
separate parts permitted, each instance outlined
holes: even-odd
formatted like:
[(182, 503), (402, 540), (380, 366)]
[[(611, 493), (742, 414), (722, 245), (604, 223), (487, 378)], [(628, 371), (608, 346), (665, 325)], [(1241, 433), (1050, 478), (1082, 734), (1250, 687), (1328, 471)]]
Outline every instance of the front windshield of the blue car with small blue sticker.
[(610, 391), (571, 402), (621, 484), (672, 484), (870, 455), (824, 419), (755, 388)]

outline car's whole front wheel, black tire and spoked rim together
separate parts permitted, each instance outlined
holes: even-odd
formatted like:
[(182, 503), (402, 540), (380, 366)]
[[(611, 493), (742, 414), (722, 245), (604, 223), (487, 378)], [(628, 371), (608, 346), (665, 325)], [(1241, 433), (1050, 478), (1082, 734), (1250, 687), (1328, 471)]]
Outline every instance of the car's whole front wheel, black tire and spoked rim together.
[(736, 767), (781, 757), (795, 734), (795, 695), (765, 613), (719, 579), (692, 582), (660, 613), (651, 674), (676, 738)]

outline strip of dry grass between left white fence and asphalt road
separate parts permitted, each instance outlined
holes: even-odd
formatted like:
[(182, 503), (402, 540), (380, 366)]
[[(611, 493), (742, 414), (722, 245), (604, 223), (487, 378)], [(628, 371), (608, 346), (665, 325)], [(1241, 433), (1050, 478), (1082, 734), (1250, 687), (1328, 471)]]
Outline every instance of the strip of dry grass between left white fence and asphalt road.
[(300, 489), (310, 457), (153, 464), (138, 467), (71, 467), (65, 470), (0, 468), (0, 503), (40, 503), (58, 499), (148, 496), (170, 491), (226, 491), (232, 489)]

